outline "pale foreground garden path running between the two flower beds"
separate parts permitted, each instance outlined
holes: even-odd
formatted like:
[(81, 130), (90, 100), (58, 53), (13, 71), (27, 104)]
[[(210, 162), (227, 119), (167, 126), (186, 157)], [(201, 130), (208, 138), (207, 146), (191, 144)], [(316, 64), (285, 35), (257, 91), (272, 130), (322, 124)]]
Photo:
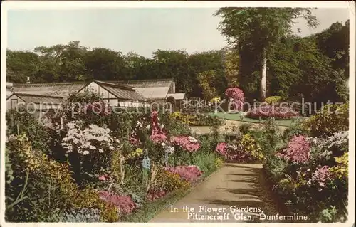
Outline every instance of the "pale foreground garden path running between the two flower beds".
[[(170, 212), (171, 208), (167, 208), (150, 222), (251, 222), (236, 221), (234, 214), (230, 213), (231, 206), (261, 208), (261, 211), (266, 215), (275, 215), (278, 213), (277, 206), (266, 184), (262, 164), (224, 164), (219, 171), (211, 174), (187, 196), (174, 204), (174, 207), (179, 208), (177, 213)], [(226, 208), (225, 213), (230, 213), (229, 220), (198, 221), (192, 220), (192, 218), (188, 219), (187, 213), (182, 211), (183, 206), (194, 207), (195, 212), (199, 211), (199, 206)], [(206, 214), (216, 215), (216, 213), (201, 212), (201, 215)], [(260, 222), (258, 214), (246, 214), (251, 215), (253, 222)]]

